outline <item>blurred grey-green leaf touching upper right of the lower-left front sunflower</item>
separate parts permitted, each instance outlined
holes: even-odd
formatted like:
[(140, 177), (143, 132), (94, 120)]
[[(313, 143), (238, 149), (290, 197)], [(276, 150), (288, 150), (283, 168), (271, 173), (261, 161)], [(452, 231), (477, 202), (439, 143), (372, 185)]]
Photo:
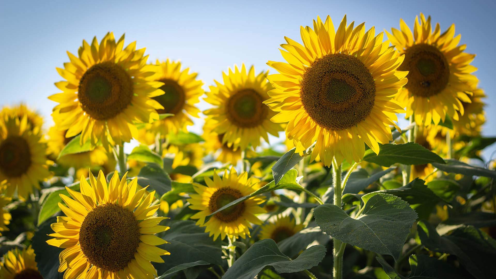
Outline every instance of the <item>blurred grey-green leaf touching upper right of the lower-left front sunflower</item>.
[(155, 190), (159, 197), (171, 191), (172, 181), (169, 175), (157, 164), (149, 163), (141, 168), (138, 174), (138, 184)]

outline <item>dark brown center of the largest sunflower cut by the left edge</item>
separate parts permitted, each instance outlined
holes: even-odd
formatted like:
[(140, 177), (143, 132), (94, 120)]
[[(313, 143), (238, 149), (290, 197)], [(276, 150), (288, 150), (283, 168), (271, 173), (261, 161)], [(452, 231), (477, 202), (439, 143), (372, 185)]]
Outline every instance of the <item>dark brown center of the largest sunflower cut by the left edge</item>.
[(31, 166), (31, 151), (26, 139), (10, 136), (0, 143), (0, 170), (8, 177), (20, 177)]

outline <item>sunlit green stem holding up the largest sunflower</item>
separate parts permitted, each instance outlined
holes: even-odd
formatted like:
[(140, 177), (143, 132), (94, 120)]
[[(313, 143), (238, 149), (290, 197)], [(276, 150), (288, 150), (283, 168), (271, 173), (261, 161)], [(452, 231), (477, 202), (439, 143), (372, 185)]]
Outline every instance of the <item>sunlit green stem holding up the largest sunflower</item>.
[[(343, 187), (341, 187), (341, 164), (338, 164), (336, 158), (332, 160), (332, 185), (334, 186), (334, 205), (341, 208), (341, 197), (343, 195)], [(341, 242), (336, 238), (333, 238), (333, 268), (332, 268), (332, 278), (342, 279), (343, 278), (343, 253), (346, 244)], [(343, 245), (344, 244), (344, 245)]]

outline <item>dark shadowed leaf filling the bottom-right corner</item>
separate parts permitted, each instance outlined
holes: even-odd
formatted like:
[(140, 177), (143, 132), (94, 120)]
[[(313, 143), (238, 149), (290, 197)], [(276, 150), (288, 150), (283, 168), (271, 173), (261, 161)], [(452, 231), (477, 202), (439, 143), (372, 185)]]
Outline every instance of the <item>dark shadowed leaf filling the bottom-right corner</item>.
[(419, 237), (429, 250), (458, 257), (461, 265), (477, 279), (496, 278), (496, 240), (473, 227), (462, 226), (449, 235), (439, 236), (434, 226), (421, 221)]

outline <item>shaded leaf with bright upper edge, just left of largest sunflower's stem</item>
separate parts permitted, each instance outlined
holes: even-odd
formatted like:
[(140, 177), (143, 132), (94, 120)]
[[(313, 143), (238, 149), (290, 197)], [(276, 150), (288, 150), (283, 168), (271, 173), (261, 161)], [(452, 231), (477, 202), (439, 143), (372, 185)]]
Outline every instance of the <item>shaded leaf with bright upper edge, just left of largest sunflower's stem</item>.
[(310, 244), (315, 243), (325, 246), (329, 240), (329, 236), (313, 224), (313, 226), (305, 228), (292, 236), (281, 240), (277, 243), (277, 246), (284, 255), (294, 258), (298, 256), (300, 252), (307, 249)]

